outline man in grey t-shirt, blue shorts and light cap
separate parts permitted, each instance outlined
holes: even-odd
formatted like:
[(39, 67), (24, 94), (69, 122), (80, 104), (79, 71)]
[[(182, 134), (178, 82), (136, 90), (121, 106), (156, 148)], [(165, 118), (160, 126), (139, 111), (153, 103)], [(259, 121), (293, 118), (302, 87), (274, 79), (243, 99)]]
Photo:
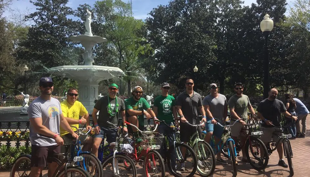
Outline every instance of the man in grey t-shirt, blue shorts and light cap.
[[(224, 95), (219, 94), (219, 87), (212, 83), (210, 84), (210, 95), (203, 99), (203, 106), (206, 110), (208, 120), (206, 123), (206, 137), (205, 141), (210, 143), (212, 134), (214, 135), (215, 144), (217, 144), (224, 132), (224, 128), (217, 125), (217, 121), (223, 125), (227, 117), (227, 99)], [(216, 119), (216, 120), (215, 120)], [(221, 152), (217, 154), (217, 160), (221, 164), (226, 165), (227, 162), (221, 158)]]

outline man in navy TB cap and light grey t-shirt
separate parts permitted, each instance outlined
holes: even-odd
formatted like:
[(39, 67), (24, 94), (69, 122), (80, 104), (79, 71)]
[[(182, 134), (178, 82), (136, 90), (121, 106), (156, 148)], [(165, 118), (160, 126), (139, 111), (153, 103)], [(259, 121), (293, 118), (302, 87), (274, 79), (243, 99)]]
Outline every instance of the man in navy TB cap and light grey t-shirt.
[(31, 142), (30, 174), (36, 177), (40, 175), (46, 163), (48, 163), (48, 174), (53, 173), (58, 166), (56, 162), (47, 160), (47, 157), (60, 153), (60, 145), (64, 144), (64, 140), (59, 136), (60, 127), (68, 131), (73, 138), (78, 138), (64, 118), (59, 101), (51, 97), (54, 90), (52, 78), (41, 78), (39, 89), (41, 95), (28, 107)]

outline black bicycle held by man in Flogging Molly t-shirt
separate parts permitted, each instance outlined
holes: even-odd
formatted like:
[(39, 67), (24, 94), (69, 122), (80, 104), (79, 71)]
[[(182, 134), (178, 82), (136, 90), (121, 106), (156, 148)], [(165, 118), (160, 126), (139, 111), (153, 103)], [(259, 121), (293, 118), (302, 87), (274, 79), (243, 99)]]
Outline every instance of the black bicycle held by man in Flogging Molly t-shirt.
[[(169, 128), (171, 128), (173, 130), (173, 133), (175, 134), (176, 128), (174, 126), (170, 127), (168, 124), (166, 124), (166, 122), (164, 120), (156, 120), (156, 121), (163, 123), (166, 126), (168, 126)], [(174, 136), (174, 134), (173, 134), (173, 136)], [(166, 157), (167, 165), (168, 165), (168, 168), (169, 168), (170, 172), (172, 173), (172, 175), (174, 175), (175, 177), (182, 177), (182, 176), (191, 177), (191, 176), (193, 176), (197, 170), (197, 157), (195, 155), (194, 150), (189, 145), (184, 144), (184, 143), (179, 143), (176, 141), (174, 141), (173, 145), (171, 145), (168, 149), (167, 143), (168, 143), (168, 137), (166, 137), (166, 143), (164, 143), (163, 151), (166, 152), (165, 157)], [(183, 147), (186, 149), (187, 154), (185, 157), (183, 157), (181, 150), (180, 150), (180, 147)], [(188, 154), (188, 153), (190, 153), (190, 154)], [(172, 162), (173, 154), (175, 154), (175, 156), (176, 156), (175, 157), (175, 165)], [(192, 157), (193, 159), (186, 161), (186, 160), (188, 160), (189, 157)], [(177, 169), (181, 166), (182, 163), (187, 165), (187, 168), (186, 168), (187, 171), (185, 170), (185, 171), (182, 171), (182, 173), (181, 173), (180, 171), (177, 171)], [(190, 164), (193, 164), (193, 168), (191, 170), (189, 170), (189, 168), (188, 168), (188, 166)], [(188, 175), (186, 175), (186, 174), (188, 174)]]

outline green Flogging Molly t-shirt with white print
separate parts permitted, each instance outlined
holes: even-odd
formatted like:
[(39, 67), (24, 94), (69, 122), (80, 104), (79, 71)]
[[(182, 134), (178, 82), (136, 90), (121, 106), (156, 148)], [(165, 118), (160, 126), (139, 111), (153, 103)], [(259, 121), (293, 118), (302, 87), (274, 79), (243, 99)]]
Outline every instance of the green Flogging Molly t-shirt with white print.
[(157, 107), (157, 119), (165, 120), (169, 125), (173, 122), (172, 107), (175, 106), (175, 98), (173, 96), (157, 96), (154, 100), (154, 107)]

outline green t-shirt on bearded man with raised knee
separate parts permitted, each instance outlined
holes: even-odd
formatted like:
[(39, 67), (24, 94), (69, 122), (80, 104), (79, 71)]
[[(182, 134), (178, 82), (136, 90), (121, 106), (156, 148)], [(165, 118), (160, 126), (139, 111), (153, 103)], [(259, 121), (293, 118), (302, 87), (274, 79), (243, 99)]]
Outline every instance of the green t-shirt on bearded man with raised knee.
[[(136, 101), (133, 97), (128, 98), (125, 100), (125, 108), (126, 108), (126, 117), (129, 117), (129, 114), (127, 113), (127, 110), (133, 109), (135, 111), (142, 111), (147, 110), (150, 108), (150, 105), (144, 98), (140, 98), (138, 101)], [(144, 126), (144, 114), (138, 116), (139, 125)]]

